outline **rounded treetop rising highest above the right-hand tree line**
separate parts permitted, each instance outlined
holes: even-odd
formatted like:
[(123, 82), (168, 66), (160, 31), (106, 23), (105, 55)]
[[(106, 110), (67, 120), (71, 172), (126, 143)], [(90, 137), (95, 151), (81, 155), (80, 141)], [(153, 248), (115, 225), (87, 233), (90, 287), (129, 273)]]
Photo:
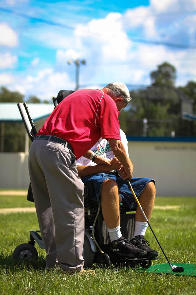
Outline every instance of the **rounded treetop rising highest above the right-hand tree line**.
[(150, 73), (152, 85), (175, 85), (176, 69), (168, 62), (157, 66), (158, 69)]

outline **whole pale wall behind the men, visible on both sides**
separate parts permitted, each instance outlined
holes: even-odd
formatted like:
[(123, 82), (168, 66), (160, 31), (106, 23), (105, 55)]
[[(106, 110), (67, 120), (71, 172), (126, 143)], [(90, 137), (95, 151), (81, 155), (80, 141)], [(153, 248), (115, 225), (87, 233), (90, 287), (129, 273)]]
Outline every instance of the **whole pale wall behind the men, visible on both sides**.
[[(196, 196), (196, 142), (128, 142), (134, 176), (156, 181), (157, 195)], [(0, 153), (0, 188), (28, 188), (28, 155)]]

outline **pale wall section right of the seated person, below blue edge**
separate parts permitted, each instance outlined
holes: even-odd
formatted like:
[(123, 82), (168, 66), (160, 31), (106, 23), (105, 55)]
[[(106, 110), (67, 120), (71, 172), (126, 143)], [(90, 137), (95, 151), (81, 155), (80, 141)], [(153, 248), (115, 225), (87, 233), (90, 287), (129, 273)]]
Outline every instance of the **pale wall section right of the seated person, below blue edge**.
[(153, 178), (157, 195), (196, 196), (196, 142), (128, 142), (134, 176)]

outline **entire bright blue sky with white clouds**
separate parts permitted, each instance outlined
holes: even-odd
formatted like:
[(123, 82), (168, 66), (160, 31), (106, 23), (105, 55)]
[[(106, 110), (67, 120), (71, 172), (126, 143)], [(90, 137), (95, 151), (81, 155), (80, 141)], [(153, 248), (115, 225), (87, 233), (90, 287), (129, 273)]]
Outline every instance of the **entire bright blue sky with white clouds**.
[(0, 85), (50, 99), (75, 88), (70, 58), (86, 60), (85, 87), (148, 85), (164, 61), (176, 67), (176, 85), (185, 85), (196, 79), (195, 23), (195, 0), (0, 1)]

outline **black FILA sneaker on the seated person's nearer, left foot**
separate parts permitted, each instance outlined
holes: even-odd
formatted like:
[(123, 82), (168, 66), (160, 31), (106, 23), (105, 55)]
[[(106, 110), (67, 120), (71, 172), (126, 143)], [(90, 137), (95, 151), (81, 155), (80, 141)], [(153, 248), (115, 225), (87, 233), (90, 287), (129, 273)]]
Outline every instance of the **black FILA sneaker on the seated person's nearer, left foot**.
[(110, 251), (117, 259), (147, 257), (146, 250), (139, 249), (123, 237), (111, 242)]

